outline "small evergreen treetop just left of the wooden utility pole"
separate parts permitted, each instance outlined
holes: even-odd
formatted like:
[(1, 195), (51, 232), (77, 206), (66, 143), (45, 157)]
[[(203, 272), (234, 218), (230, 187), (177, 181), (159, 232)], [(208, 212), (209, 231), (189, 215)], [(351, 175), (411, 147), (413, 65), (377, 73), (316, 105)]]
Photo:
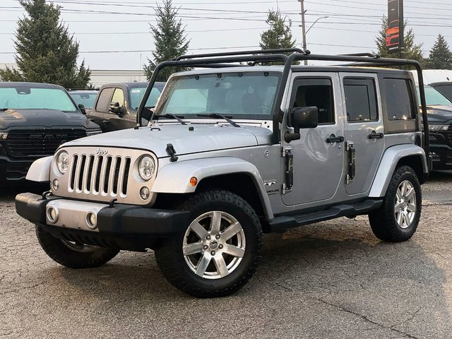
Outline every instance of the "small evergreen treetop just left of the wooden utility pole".
[(268, 11), (266, 23), (270, 28), (261, 34), (261, 49), (295, 48), (292, 40), (292, 20), (281, 17), (279, 11)]

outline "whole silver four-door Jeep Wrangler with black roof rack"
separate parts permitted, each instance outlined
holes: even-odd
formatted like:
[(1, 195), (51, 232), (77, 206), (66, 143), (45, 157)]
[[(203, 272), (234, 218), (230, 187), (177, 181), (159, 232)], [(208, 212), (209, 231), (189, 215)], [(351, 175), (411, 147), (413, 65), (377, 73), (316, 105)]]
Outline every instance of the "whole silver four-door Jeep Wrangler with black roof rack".
[[(348, 66), (294, 64), (305, 59)], [(169, 283), (196, 297), (239, 290), (263, 233), (369, 215), (376, 237), (405, 241), (420, 220), (429, 129), (412, 73), (378, 66), (407, 65), (419, 73), (425, 115), (417, 61), (299, 49), (165, 61), (138, 109), (150, 124), (37, 160), (27, 179), (51, 190), (19, 194), (16, 210), (61, 265), (153, 249)], [(195, 70), (173, 74), (157, 106), (145, 107), (168, 66)]]

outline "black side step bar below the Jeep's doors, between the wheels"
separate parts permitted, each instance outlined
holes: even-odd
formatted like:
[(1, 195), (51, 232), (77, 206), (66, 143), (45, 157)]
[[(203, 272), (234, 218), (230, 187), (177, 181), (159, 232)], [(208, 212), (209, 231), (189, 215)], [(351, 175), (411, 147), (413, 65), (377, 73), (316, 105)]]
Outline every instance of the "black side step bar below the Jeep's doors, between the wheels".
[(354, 205), (337, 205), (320, 212), (302, 213), (298, 215), (282, 215), (268, 222), (270, 232), (284, 232), (288, 228), (314, 224), (339, 217), (367, 214), (369, 211), (379, 208), (383, 199), (367, 199)]

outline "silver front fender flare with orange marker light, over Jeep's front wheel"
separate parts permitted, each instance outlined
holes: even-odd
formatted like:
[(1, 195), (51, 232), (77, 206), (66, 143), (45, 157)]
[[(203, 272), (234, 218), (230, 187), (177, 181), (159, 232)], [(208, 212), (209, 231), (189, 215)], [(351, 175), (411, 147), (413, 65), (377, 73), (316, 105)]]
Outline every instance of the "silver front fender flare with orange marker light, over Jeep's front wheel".
[(191, 186), (191, 177), (196, 177), (198, 182), (201, 182), (208, 177), (232, 173), (244, 173), (253, 179), (267, 218), (273, 218), (261, 174), (251, 162), (237, 157), (208, 157), (171, 162), (159, 169), (151, 191), (170, 194), (193, 193), (196, 191), (196, 186)]

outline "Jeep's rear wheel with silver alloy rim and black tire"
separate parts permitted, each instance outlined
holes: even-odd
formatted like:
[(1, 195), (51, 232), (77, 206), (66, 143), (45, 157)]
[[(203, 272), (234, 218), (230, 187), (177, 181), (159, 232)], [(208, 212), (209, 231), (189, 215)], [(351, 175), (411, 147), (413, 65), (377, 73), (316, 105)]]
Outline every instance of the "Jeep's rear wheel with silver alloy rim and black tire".
[(383, 205), (369, 213), (372, 231), (386, 242), (403, 242), (416, 232), (422, 208), (422, 191), (415, 171), (409, 166), (396, 169)]

